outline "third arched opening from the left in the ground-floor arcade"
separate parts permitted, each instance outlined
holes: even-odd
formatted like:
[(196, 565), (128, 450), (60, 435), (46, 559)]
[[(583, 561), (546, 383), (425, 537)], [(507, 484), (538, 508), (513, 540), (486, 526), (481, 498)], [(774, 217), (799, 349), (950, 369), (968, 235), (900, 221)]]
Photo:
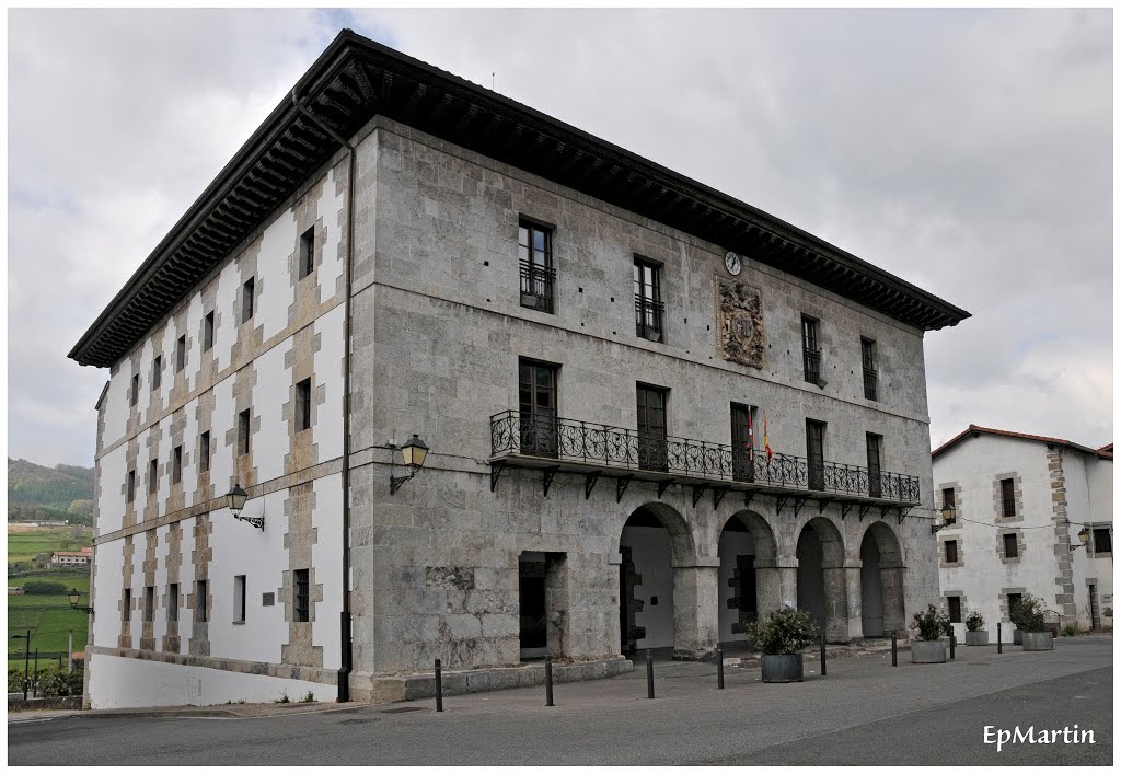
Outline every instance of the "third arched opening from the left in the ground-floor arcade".
[(798, 559), (798, 607), (807, 610), (830, 642), (849, 639), (844, 577), (844, 540), (824, 517), (809, 519), (795, 554)]

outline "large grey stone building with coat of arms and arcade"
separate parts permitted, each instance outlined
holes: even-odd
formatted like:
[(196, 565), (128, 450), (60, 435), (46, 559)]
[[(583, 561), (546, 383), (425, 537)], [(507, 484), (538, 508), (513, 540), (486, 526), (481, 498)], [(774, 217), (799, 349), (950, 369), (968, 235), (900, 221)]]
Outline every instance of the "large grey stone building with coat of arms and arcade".
[(904, 628), (923, 338), (966, 316), (345, 30), (71, 352), (111, 375), (87, 695), (595, 676), (782, 605)]

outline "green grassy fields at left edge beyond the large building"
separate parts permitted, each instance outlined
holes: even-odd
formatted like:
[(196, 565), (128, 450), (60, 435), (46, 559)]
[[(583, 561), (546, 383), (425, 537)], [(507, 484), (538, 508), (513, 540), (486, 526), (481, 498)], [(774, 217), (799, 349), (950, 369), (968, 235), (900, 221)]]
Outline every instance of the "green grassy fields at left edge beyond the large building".
[[(24, 586), (33, 580), (56, 581), (82, 592), (80, 605), (90, 603), (90, 570), (57, 569), (35, 570), (11, 575), (13, 562), (28, 562), (37, 554), (52, 551), (76, 551), (90, 545), (90, 531), (76, 533), (73, 527), (43, 527), (34, 531), (8, 533), (8, 586)], [(8, 597), (8, 661), (22, 662), (26, 643), (12, 639), (13, 634), (31, 630), (31, 652), (39, 649), (40, 661), (45, 655), (65, 655), (67, 632), (74, 630), (74, 649), (85, 649), (87, 618), (84, 612), (70, 606), (66, 595), (17, 595)]]

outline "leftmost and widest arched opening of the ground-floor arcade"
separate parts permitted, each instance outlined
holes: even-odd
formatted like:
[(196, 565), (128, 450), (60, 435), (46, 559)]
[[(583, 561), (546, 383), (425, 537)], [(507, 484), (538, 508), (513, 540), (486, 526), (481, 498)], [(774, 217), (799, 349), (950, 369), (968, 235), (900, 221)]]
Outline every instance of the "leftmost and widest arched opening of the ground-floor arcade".
[(623, 525), (619, 552), (620, 651), (675, 647), (675, 568), (694, 553), (685, 519), (666, 505), (641, 506)]

